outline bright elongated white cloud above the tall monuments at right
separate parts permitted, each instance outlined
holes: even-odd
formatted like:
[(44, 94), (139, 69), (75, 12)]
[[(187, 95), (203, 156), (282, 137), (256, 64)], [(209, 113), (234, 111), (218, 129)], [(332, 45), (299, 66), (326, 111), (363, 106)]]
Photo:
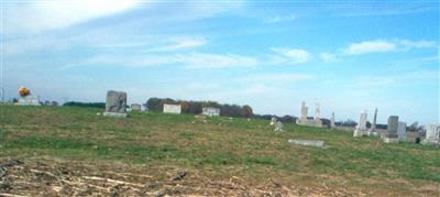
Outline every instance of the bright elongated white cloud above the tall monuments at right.
[(396, 44), (388, 41), (364, 41), (350, 44), (343, 52), (348, 55), (361, 55), (367, 53), (391, 52), (396, 48)]

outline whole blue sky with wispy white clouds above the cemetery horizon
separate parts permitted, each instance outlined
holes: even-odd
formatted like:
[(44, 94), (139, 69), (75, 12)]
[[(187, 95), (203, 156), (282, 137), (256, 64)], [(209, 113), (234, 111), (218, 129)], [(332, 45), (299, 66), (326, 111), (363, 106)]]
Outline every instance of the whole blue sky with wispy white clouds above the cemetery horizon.
[(1, 1), (1, 88), (440, 123), (438, 1)]

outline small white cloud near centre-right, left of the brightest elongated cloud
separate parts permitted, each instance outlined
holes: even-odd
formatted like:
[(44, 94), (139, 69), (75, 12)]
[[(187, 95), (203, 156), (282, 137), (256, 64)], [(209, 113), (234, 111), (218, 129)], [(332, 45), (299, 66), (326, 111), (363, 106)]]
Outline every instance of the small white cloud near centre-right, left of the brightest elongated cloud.
[(275, 64), (301, 64), (311, 58), (311, 54), (309, 52), (300, 48), (271, 48), (271, 51), (279, 55), (274, 57), (273, 62)]

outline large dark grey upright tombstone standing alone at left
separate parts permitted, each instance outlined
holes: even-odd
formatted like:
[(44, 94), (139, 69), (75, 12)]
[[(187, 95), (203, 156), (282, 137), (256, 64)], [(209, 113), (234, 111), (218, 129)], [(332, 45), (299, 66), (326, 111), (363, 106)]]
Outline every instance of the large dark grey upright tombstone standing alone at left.
[(127, 92), (107, 91), (106, 117), (127, 117)]

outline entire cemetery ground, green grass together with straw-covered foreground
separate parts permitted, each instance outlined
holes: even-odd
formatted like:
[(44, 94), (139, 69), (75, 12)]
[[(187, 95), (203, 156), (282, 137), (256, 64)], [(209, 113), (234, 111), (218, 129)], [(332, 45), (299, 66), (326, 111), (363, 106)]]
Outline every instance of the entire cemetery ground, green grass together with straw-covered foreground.
[(440, 196), (436, 146), (255, 119), (0, 108), (6, 196)]

